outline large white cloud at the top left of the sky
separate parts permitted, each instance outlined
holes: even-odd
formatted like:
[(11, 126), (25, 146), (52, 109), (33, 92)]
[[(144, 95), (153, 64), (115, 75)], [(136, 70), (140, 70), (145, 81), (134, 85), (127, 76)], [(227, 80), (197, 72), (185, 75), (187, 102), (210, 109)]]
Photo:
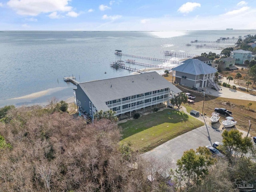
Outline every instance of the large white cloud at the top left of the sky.
[(72, 10), (71, 0), (9, 0), (7, 5), (19, 15), (37, 16), (40, 13)]

